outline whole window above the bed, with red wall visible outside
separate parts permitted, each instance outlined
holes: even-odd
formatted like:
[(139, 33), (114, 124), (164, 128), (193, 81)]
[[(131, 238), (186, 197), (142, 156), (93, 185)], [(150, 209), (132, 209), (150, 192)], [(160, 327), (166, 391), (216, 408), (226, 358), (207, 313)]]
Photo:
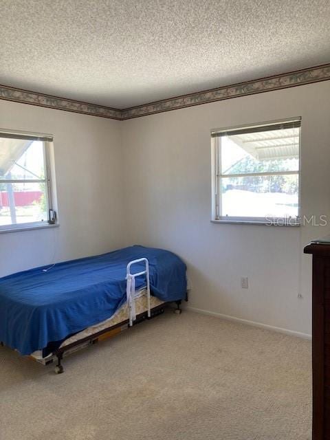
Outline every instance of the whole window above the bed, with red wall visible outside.
[(52, 137), (0, 131), (0, 232), (56, 223)]

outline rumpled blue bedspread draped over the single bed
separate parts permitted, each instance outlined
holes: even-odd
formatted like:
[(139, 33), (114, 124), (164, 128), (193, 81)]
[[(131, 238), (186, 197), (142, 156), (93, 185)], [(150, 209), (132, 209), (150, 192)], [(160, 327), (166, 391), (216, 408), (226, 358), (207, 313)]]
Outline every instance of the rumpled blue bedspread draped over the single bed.
[[(102, 322), (126, 300), (126, 265), (149, 261), (151, 292), (164, 301), (186, 296), (186, 265), (166, 250), (131, 246), (0, 278), (0, 341), (28, 355)], [(132, 267), (144, 270), (143, 263)], [(137, 278), (137, 288), (145, 285)]]

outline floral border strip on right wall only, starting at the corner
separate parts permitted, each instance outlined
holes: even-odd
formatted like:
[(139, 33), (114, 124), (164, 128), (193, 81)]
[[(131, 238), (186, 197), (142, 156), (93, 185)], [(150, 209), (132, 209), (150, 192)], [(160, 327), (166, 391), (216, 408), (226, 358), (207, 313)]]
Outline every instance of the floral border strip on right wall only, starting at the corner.
[(330, 64), (131, 107), (122, 110), (122, 119), (139, 118), (152, 113), (182, 109), (192, 105), (238, 98), (239, 96), (259, 94), (265, 91), (285, 89), (325, 80), (330, 80)]

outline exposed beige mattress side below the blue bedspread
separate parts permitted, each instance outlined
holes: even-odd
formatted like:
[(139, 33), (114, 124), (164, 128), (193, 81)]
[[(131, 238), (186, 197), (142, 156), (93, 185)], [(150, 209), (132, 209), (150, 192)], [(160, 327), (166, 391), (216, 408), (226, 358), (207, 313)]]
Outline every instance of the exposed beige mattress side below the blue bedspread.
[[(164, 304), (164, 301), (159, 300), (155, 296), (150, 297), (150, 305), (151, 309), (154, 307), (157, 307), (159, 305)], [(140, 292), (136, 293), (135, 296), (135, 310), (136, 314), (142, 314), (144, 311), (148, 310), (148, 302), (147, 302), (147, 296), (146, 296), (146, 289), (140, 290)], [(102, 322), (99, 322), (96, 325), (91, 325), (90, 327), (87, 327), (87, 329), (84, 329), (83, 331), (80, 331), (79, 333), (76, 333), (74, 336), (71, 336), (70, 338), (67, 338), (62, 344), (61, 347), (66, 347), (69, 344), (72, 344), (74, 342), (78, 342), (79, 340), (82, 340), (83, 338), (87, 338), (88, 336), (93, 335), (94, 333), (98, 333), (98, 331), (102, 331), (104, 329), (107, 329), (108, 327), (112, 327), (113, 325), (118, 325), (120, 322), (124, 322), (129, 318), (129, 308), (127, 307), (127, 303), (124, 303), (116, 312), (111, 316), (111, 318), (104, 320)], [(127, 325), (123, 326), (125, 329)], [(119, 333), (122, 329), (119, 328)], [(89, 344), (89, 342), (87, 342)], [(34, 351), (34, 353), (31, 354), (32, 358), (36, 360), (51, 360), (53, 355), (50, 354), (46, 358), (43, 358), (43, 351), (38, 350)]]

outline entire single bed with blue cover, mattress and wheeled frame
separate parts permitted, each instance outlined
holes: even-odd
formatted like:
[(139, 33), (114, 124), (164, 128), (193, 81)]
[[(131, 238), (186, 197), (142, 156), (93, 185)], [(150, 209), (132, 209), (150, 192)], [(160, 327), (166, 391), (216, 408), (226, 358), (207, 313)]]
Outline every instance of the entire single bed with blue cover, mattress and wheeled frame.
[(186, 299), (186, 265), (135, 245), (0, 278), (0, 341), (49, 364)]

